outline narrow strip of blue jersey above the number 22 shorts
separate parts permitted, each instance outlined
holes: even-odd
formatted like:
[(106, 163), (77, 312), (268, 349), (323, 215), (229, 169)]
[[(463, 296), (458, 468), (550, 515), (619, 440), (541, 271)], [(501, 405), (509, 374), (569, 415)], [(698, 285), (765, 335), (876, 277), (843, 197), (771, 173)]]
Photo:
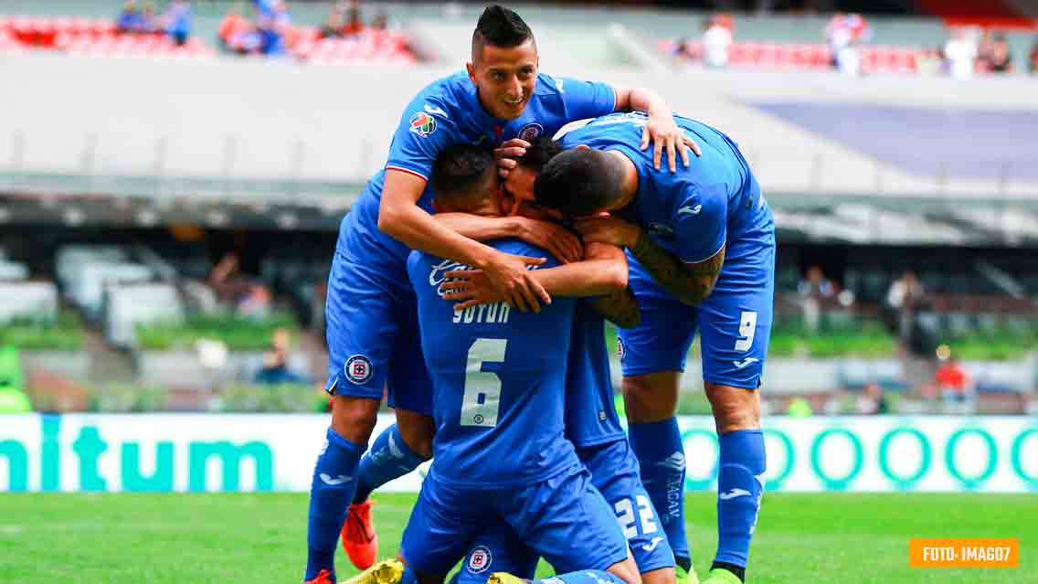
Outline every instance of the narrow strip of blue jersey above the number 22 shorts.
[(624, 436), (612, 400), (605, 319), (581, 301), (573, 317), (566, 373), (566, 435), (577, 448)]

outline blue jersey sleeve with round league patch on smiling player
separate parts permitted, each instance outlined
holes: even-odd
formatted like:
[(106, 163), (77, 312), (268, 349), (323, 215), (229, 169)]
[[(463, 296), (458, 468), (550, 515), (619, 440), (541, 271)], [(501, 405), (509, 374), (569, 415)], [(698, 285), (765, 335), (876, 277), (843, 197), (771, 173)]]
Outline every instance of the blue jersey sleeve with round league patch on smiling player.
[(389, 144), (386, 170), (403, 170), (429, 180), (436, 155), (456, 141), (454, 124), (439, 115), (441, 112), (442, 108), (429, 106), (420, 97), (407, 106)]

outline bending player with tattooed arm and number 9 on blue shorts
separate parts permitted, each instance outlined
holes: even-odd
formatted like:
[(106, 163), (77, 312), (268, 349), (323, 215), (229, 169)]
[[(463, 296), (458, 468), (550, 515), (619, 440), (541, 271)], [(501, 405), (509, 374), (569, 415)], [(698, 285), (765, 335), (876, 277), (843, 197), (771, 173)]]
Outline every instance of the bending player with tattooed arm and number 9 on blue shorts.
[[(585, 242), (627, 248), (641, 322), (620, 331), (629, 433), (641, 479), (662, 513), (681, 567), (685, 460), (674, 417), (681, 371), (696, 328), (704, 384), (720, 443), (718, 548), (705, 584), (741, 582), (765, 472), (760, 386), (774, 295), (774, 223), (760, 186), (728, 136), (692, 120), (678, 125), (704, 144), (695, 168), (652, 171), (638, 150), (646, 118), (597, 118), (563, 137), (570, 148), (536, 178), (514, 172), (510, 190), (558, 216), (579, 217)], [(608, 212), (608, 216), (596, 215)], [(492, 297), (473, 280), (454, 299)]]

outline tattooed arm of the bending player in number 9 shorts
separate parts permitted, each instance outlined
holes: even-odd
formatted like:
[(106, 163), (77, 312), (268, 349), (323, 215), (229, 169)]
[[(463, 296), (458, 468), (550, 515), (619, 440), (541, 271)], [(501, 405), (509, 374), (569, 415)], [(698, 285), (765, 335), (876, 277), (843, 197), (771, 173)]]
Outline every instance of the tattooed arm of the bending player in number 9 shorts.
[[(713, 291), (725, 264), (725, 245), (701, 262), (684, 262), (660, 247), (639, 225), (618, 217), (579, 219), (577, 231), (585, 242), (599, 241), (627, 247), (638, 263), (668, 294), (689, 306), (698, 306)], [(723, 240), (721, 240), (723, 241)]]

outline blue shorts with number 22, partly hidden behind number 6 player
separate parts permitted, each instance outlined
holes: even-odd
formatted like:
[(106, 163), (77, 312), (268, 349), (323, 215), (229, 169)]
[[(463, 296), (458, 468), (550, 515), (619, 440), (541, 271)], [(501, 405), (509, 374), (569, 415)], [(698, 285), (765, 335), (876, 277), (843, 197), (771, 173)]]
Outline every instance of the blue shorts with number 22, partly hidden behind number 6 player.
[[(592, 484), (616, 512), (638, 572), (674, 567), (674, 551), (641, 484), (638, 461), (627, 436), (578, 449), (577, 454), (592, 474)], [(537, 553), (509, 526), (499, 524), (476, 538), (455, 580), (458, 584), (484, 584), (494, 572), (530, 580), (537, 561)], [(557, 566), (555, 570), (562, 572)]]

